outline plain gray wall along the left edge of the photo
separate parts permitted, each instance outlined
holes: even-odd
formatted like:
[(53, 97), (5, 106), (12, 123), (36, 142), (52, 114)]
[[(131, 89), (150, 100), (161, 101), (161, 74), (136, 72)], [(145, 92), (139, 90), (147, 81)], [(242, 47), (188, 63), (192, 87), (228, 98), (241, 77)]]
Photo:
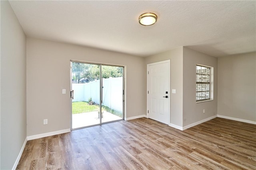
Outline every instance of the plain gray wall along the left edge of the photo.
[(26, 35), (1, 3), (1, 167), (12, 169), (26, 139)]

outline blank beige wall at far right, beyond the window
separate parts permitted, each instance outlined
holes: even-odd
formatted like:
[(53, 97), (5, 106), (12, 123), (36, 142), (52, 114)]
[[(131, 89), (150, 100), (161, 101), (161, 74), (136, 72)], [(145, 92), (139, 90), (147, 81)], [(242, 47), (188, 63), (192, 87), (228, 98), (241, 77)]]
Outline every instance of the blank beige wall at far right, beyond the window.
[(218, 58), (218, 115), (256, 122), (256, 52)]

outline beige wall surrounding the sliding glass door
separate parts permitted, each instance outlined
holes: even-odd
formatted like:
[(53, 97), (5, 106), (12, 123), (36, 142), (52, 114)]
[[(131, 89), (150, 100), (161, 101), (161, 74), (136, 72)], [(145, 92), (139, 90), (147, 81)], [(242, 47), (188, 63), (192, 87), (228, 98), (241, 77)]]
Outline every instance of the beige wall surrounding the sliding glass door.
[[(70, 128), (70, 59), (126, 65), (126, 117), (146, 113), (144, 58), (28, 38), (28, 136)], [(43, 119), (48, 119), (48, 125), (43, 125)]]

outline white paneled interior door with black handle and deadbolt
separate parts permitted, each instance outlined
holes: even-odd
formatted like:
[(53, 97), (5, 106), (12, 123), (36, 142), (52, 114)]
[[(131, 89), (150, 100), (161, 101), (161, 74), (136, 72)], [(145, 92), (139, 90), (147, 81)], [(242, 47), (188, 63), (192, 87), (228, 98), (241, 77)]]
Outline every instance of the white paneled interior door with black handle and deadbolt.
[(170, 122), (170, 60), (148, 64), (148, 117)]

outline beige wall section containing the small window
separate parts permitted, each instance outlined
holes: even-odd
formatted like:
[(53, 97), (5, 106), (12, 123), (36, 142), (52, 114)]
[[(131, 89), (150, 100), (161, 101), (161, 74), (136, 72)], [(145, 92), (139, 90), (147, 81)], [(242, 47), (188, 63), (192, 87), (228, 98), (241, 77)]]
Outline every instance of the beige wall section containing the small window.
[[(196, 103), (196, 65), (214, 67), (213, 101)], [(183, 48), (183, 127), (217, 115), (217, 58)], [(205, 109), (205, 113), (203, 113)]]

